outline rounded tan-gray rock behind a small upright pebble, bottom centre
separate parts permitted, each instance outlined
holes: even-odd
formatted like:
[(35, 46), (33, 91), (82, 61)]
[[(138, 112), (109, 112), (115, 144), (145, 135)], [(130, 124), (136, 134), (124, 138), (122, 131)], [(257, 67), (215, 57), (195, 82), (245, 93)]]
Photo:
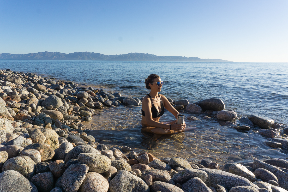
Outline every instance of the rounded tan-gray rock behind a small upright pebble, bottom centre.
[(162, 181), (165, 183), (170, 183), (175, 185), (175, 182), (171, 179), (171, 176), (168, 172), (162, 171), (162, 170), (144, 170), (141, 174), (141, 179), (144, 180), (146, 175), (151, 175), (153, 178), (153, 181)]

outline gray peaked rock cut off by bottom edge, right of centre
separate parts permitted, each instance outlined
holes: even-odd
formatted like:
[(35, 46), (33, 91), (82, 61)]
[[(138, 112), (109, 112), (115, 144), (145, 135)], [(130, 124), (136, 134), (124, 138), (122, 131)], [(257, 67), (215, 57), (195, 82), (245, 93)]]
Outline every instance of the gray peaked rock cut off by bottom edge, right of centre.
[(207, 185), (198, 177), (194, 177), (182, 186), (184, 192), (212, 192)]

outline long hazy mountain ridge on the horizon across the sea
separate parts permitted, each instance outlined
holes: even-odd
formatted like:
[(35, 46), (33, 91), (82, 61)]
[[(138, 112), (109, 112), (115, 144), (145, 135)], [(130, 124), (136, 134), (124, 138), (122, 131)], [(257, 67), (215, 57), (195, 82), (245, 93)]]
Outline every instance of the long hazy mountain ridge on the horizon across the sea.
[(100, 53), (75, 52), (38, 52), (29, 54), (0, 54), (0, 59), (18, 60), (96, 60), (96, 61), (202, 61), (202, 62), (230, 62), (222, 59), (200, 59), (198, 57), (156, 56), (148, 53), (128, 53), (124, 55), (103, 55)]

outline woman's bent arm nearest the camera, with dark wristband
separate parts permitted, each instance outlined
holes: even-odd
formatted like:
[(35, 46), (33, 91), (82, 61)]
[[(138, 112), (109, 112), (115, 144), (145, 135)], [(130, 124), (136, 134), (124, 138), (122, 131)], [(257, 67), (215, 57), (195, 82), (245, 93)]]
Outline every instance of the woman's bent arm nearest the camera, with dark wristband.
[[(153, 120), (152, 112), (151, 112), (151, 102), (148, 98), (143, 99), (142, 107), (144, 107), (145, 119), (146, 119), (147, 125), (149, 125), (151, 127), (160, 127), (163, 129), (169, 129), (170, 130), (170, 125), (164, 124), (164, 123), (159, 123), (159, 122)], [(176, 117), (177, 117), (177, 115), (176, 115)], [(181, 124), (177, 125), (175, 123), (175, 124), (171, 125), (171, 130), (180, 131), (181, 130)]]

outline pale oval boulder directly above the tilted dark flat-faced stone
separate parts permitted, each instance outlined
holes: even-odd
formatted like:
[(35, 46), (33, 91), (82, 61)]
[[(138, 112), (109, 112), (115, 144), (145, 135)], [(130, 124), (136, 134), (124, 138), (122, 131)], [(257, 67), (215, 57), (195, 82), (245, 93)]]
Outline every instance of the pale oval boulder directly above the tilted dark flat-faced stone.
[(100, 154), (80, 153), (77, 160), (79, 164), (88, 165), (89, 172), (104, 173), (111, 166), (111, 160)]

